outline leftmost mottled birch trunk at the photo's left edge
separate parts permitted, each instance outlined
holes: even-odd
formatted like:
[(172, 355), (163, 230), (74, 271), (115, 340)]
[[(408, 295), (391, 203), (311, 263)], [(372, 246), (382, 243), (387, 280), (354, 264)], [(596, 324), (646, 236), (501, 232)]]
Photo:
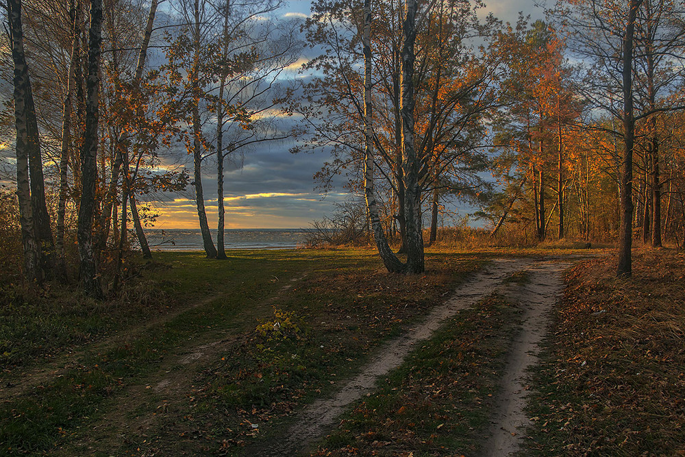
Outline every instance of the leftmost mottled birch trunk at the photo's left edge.
[[(16, 196), (19, 203), (19, 222), (24, 250), (24, 275), (31, 281), (42, 281), (40, 269), (40, 247), (36, 240), (36, 227), (31, 205), (29, 184), (29, 149), (37, 138), (29, 136), (27, 127), (27, 97), (31, 82), (24, 54), (23, 30), (21, 27), (21, 0), (8, 0), (8, 21), (10, 45), (14, 63), (14, 125), (16, 127)], [(37, 133), (37, 132), (36, 132)]]

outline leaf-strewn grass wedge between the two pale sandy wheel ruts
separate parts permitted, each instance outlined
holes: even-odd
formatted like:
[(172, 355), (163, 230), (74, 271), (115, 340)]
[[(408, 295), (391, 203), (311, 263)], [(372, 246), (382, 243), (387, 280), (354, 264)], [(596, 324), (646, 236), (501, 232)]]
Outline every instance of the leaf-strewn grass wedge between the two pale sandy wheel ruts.
[(460, 312), (345, 415), (314, 455), (473, 455), (518, 316), (496, 295)]

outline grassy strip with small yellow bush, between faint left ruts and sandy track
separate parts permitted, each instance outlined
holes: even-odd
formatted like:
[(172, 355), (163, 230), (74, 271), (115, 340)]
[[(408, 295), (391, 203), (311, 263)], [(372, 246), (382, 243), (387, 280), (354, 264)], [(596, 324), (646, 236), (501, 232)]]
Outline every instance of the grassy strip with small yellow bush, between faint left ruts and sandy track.
[[(181, 420), (142, 432), (148, 452), (242, 454), (282, 433), (301, 404), (325, 395), (366, 355), (396, 336), (483, 261), (429, 254), (426, 275), (388, 275), (373, 251), (325, 251), (249, 332), (213, 355), (183, 399)], [(278, 324), (278, 325), (276, 325)], [(139, 420), (140, 418), (136, 419)], [(256, 426), (256, 428), (253, 427)]]

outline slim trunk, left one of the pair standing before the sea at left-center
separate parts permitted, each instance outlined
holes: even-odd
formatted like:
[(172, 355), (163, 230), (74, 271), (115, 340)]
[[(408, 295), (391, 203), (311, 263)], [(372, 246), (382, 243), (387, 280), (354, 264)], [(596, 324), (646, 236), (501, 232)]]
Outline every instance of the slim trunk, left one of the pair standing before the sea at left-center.
[(202, 243), (208, 258), (216, 258), (216, 247), (212, 242), (212, 233), (207, 223), (207, 212), (205, 210), (205, 197), (202, 190), (202, 134), (200, 125), (200, 86), (199, 86), (199, 64), (200, 64), (200, 2), (195, 0), (195, 29), (193, 31), (195, 62), (192, 65), (190, 78), (192, 80), (192, 164), (195, 177), (195, 203), (197, 206), (197, 218), (200, 223)]

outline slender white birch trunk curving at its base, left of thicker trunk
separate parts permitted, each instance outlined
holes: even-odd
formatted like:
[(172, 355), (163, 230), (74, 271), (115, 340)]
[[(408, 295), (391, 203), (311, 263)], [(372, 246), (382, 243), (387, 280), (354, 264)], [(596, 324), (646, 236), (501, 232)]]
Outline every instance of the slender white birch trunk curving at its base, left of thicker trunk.
[(371, 0), (364, 0), (364, 31), (362, 47), (364, 51), (364, 197), (366, 214), (371, 222), (373, 239), (378, 254), (390, 273), (401, 273), (404, 265), (388, 245), (383, 225), (378, 215), (378, 206), (373, 190), (373, 105), (371, 104)]

